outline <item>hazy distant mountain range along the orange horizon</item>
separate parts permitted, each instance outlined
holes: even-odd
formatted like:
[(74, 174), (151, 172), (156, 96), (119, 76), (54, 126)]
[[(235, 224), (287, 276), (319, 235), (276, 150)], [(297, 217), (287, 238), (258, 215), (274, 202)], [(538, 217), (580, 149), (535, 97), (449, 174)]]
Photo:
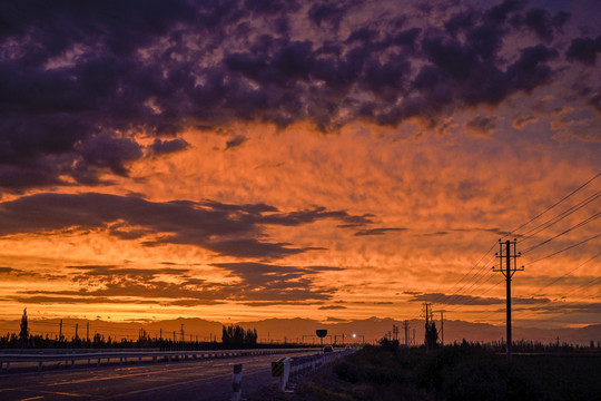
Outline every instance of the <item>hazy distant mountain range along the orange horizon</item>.
[[(18, 333), (20, 320), (0, 321), (0, 334)], [(89, 325), (88, 325), (89, 324)], [(397, 339), (403, 343), (405, 341), (405, 331), (402, 321), (396, 321), (390, 317), (370, 317), (366, 320), (355, 320), (344, 323), (322, 323), (312, 319), (267, 319), (253, 322), (231, 322), (244, 327), (256, 329), (259, 342), (302, 342), (319, 343), (319, 339), (315, 335), (318, 329), (327, 330), (327, 336), (324, 343), (337, 342), (374, 342), (385, 335), (393, 334), (393, 325), (398, 326)], [(181, 334), (186, 341), (209, 341), (221, 339), (223, 324), (215, 321), (203, 319), (184, 319), (178, 317), (165, 321), (151, 322), (110, 322), (101, 320), (85, 320), (85, 319), (63, 319), (62, 334), (70, 339), (75, 336), (76, 325), (78, 335), (86, 339), (89, 335), (91, 339), (96, 332), (108, 338), (128, 338), (131, 340), (138, 339), (140, 329), (145, 330), (151, 338), (160, 336), (166, 339), (181, 339)], [(499, 341), (505, 335), (504, 325), (492, 325), (486, 323), (470, 323), (460, 320), (445, 320), (442, 324), (436, 321), (439, 330), (443, 329), (440, 336), (444, 336), (445, 343), (454, 341)], [(57, 336), (59, 333), (60, 320), (29, 320), (29, 329), (33, 334), (48, 334), (50, 338)], [(89, 327), (89, 329), (88, 329)], [(89, 332), (88, 332), (89, 331)], [(353, 336), (355, 334), (355, 336)], [(344, 336), (344, 338), (343, 338)], [(424, 321), (408, 321), (408, 339), (414, 343), (422, 343), (424, 336)], [(532, 329), (519, 327), (513, 329), (513, 340), (531, 340), (542, 343), (555, 342), (559, 338), (560, 342), (572, 344), (589, 344), (590, 341), (601, 341), (601, 324), (588, 325), (578, 329)]]

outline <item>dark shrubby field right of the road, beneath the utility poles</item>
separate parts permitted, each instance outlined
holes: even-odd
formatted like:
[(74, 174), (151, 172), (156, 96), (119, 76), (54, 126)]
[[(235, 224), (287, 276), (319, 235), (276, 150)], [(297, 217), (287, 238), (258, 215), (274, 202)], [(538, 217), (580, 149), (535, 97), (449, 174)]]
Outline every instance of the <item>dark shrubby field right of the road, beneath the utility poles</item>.
[(601, 400), (601, 354), (518, 354), (510, 363), (470, 344), (430, 353), (365, 346), (303, 379), (294, 393), (249, 400)]

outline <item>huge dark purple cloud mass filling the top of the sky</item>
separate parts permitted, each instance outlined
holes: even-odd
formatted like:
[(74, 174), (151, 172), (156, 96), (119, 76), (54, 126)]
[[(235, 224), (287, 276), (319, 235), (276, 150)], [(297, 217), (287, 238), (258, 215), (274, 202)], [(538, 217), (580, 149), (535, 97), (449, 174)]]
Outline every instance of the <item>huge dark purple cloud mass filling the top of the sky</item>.
[[(65, 177), (102, 184), (101, 174), (127, 176), (146, 154), (186, 149), (173, 138), (183, 128), (231, 120), (308, 120), (324, 131), (357, 119), (436, 124), (455, 109), (530, 94), (560, 74), (552, 61), (564, 52), (556, 38), (565, 12), (505, 0), (446, 8), (440, 27), (426, 29), (421, 22), (442, 8), (396, 4), (383, 16), (367, 6), (3, 2), (0, 187), (60, 185)], [(343, 33), (351, 20), (361, 22)], [(299, 35), (295, 23), (312, 31)], [(531, 40), (506, 57), (512, 35)], [(568, 61), (595, 62), (599, 38), (568, 42)], [(145, 149), (137, 134), (157, 140)], [(236, 138), (228, 148), (244, 141)]]

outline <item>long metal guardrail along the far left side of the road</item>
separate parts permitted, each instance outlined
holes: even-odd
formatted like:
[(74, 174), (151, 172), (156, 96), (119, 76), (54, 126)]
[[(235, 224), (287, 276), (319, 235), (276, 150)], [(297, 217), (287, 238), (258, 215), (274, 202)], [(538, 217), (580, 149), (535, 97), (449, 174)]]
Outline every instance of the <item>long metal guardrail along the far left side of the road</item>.
[(92, 352), (92, 353), (70, 353), (70, 354), (0, 354), (0, 373), (9, 372), (11, 364), (37, 364), (38, 371), (42, 370), (43, 363), (65, 362), (66, 365), (75, 368), (76, 361), (87, 361), (87, 366), (92, 365), (92, 361), (97, 366), (102, 362), (110, 364), (119, 362), (119, 364), (136, 361), (141, 363), (142, 360), (157, 363), (159, 360), (176, 361), (176, 360), (198, 360), (198, 359), (217, 359), (217, 358), (234, 358), (247, 355), (267, 355), (277, 353), (306, 352), (307, 349), (268, 349), (268, 350), (221, 350), (221, 351), (115, 351), (115, 352)]

